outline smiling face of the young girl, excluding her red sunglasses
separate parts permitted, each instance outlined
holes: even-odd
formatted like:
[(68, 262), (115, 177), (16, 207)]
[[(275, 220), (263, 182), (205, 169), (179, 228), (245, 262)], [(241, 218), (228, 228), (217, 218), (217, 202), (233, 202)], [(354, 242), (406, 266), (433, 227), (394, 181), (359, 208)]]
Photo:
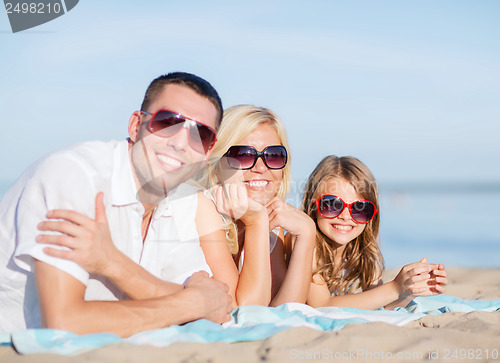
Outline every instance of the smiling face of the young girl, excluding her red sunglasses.
[[(359, 195), (353, 185), (344, 178), (331, 178), (320, 184), (315, 198), (331, 194), (340, 197), (344, 203), (352, 203), (364, 198)], [(347, 208), (339, 216), (328, 219), (316, 212), (318, 227), (335, 244), (333, 247), (345, 247), (347, 243), (358, 237), (365, 229), (366, 224), (357, 223), (352, 219)]]

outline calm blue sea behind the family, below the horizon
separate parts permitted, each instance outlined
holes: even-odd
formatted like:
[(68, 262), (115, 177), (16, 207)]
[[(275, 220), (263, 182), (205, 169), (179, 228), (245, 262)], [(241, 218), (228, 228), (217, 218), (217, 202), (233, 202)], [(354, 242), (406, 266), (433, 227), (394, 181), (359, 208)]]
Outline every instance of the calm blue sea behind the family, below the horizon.
[[(0, 180), (0, 198), (12, 184)], [(500, 183), (382, 183), (379, 192), (387, 268), (422, 257), (445, 266), (500, 267)], [(299, 206), (300, 194), (287, 201)]]

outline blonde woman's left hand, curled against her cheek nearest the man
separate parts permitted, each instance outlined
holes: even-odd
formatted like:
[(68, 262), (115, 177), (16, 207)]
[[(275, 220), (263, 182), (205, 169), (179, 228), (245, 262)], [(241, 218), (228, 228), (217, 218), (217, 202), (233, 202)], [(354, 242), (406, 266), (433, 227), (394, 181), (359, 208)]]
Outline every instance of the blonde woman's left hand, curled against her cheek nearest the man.
[(241, 220), (246, 226), (265, 217), (263, 205), (248, 197), (247, 188), (239, 183), (215, 187), (215, 204), (219, 213)]

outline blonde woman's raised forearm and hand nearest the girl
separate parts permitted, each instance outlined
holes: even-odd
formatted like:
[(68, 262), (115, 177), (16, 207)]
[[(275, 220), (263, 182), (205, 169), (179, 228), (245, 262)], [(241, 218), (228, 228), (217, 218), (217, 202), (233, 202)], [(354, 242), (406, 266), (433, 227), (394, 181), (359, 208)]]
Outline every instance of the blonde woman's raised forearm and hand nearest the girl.
[[(269, 229), (280, 226), (288, 231), (284, 238), (288, 246), (295, 236), (295, 243), (289, 250), (292, 255), (286, 268), (283, 248), (283, 232), (271, 255), (273, 273), (273, 299), (271, 306), (287, 302), (305, 303), (312, 275), (312, 256), (316, 236), (316, 226), (304, 212), (279, 198), (268, 205)], [(275, 294), (274, 294), (275, 293)]]

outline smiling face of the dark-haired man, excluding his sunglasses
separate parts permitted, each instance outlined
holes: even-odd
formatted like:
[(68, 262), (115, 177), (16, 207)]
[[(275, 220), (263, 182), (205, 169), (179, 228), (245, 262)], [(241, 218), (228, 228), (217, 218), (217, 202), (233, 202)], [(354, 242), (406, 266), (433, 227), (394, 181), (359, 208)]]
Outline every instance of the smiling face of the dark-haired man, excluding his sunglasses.
[[(215, 129), (215, 106), (186, 86), (166, 85), (146, 111), (154, 114), (160, 109), (180, 113)], [(169, 137), (151, 133), (147, 128), (150, 119), (150, 115), (140, 112), (134, 112), (131, 116), (129, 135), (133, 145), (130, 157), (139, 195), (146, 191), (149, 197), (154, 196), (154, 200), (145, 202), (156, 204), (169, 190), (185, 182), (204, 167), (210, 151), (205, 154), (194, 150), (189, 142), (187, 128), (182, 128)], [(144, 196), (141, 196), (141, 201), (143, 198)]]

